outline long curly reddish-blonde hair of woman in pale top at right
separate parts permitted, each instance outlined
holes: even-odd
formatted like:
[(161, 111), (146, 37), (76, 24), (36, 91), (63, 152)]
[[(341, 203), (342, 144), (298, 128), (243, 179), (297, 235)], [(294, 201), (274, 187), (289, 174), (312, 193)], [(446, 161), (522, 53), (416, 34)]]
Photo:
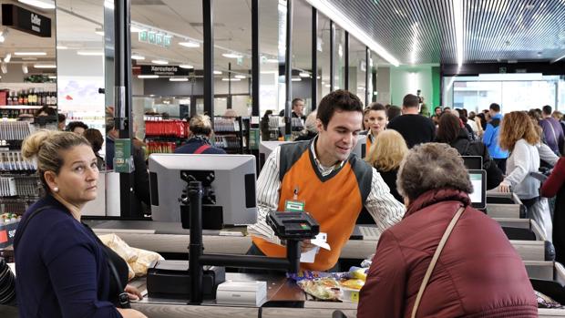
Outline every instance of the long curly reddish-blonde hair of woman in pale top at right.
[(528, 113), (512, 111), (502, 118), (498, 143), (500, 148), (512, 151), (519, 139), (525, 139), (530, 145), (536, 145), (539, 143), (539, 132)]

